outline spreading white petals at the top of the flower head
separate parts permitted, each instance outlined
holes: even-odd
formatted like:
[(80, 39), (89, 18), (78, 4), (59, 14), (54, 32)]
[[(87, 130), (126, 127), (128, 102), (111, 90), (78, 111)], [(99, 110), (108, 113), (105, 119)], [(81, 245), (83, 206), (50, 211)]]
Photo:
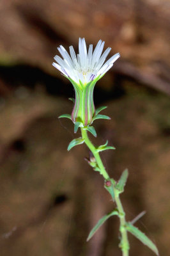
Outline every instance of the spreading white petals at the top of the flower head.
[(99, 40), (95, 51), (93, 51), (93, 45), (90, 44), (87, 52), (85, 39), (79, 38), (79, 54), (77, 56), (72, 46), (69, 47), (69, 55), (66, 49), (60, 45), (58, 51), (63, 57), (63, 60), (56, 55), (54, 60), (57, 63), (54, 62), (52, 65), (77, 84), (81, 81), (85, 85), (97, 77), (100, 79), (112, 67), (114, 61), (120, 57), (120, 54), (116, 53), (104, 63), (107, 55), (111, 51), (111, 47), (108, 47), (102, 54), (104, 43), (102, 40)]

